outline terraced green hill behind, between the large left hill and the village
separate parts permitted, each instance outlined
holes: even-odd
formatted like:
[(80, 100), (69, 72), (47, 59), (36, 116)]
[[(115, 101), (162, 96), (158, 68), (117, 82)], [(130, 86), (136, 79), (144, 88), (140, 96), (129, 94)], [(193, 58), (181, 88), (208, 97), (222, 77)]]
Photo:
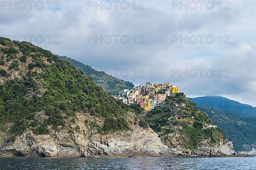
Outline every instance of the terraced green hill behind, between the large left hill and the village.
[(89, 65), (85, 65), (75, 59), (71, 59), (70, 57), (61, 56), (61, 59), (67, 59), (72, 64), (81, 71), (84, 71), (89, 77), (93, 78), (93, 81), (96, 85), (103, 88), (103, 90), (111, 93), (112, 95), (116, 95), (117, 92), (122, 91), (123, 89), (131, 89), (134, 85), (131, 82), (126, 82), (116, 77), (110, 76), (103, 71), (96, 71)]

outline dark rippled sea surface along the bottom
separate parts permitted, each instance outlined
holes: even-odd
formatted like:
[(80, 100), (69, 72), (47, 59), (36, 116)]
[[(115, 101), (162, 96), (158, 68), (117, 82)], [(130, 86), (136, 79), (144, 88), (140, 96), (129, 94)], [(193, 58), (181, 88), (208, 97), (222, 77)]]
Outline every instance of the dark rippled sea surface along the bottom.
[(256, 170), (256, 158), (0, 158), (0, 170)]

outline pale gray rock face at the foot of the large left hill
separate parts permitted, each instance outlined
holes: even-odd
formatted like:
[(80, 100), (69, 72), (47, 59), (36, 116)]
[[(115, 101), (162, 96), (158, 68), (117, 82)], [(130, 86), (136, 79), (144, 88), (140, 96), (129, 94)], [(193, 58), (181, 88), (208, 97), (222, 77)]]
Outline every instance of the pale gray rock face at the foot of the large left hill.
[(15, 142), (3, 142), (0, 156), (13, 157), (89, 157), (89, 156), (172, 156), (151, 129), (100, 136), (99, 134), (55, 133), (34, 135), (26, 132)]

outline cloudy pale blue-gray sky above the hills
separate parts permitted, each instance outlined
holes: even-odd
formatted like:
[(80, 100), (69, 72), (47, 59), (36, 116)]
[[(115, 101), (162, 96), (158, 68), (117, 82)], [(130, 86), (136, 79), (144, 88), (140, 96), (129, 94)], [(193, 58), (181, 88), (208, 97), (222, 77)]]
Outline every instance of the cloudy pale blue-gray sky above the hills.
[(0, 35), (134, 85), (256, 106), (256, 1), (219, 1), (1, 1)]

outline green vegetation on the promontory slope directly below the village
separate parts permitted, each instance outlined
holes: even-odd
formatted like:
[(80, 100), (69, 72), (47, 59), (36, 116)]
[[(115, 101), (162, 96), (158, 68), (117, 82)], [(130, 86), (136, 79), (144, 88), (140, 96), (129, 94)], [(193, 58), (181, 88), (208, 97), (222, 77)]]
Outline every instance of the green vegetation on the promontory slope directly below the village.
[[(175, 108), (172, 106), (181, 103), (186, 104), (186, 107)], [(160, 136), (169, 133), (181, 133), (187, 136), (190, 149), (197, 148), (203, 139), (210, 139), (212, 144), (218, 144), (225, 139), (221, 129), (203, 128), (203, 121), (212, 125), (213, 122), (206, 113), (198, 110), (195, 103), (186, 100), (183, 93), (167, 97), (166, 105), (154, 108), (146, 114), (145, 119)], [(172, 126), (182, 126), (182, 129), (177, 132), (177, 130), (172, 130)]]

